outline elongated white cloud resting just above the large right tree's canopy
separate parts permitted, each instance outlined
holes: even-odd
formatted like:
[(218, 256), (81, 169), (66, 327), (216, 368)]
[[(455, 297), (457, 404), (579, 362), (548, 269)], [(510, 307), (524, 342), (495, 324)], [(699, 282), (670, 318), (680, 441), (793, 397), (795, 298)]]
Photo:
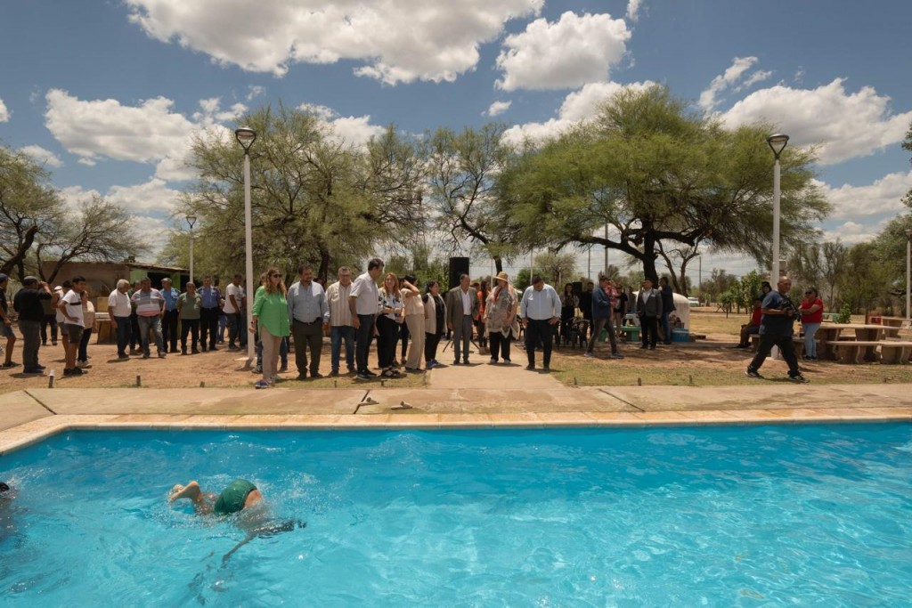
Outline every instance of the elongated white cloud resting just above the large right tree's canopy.
[(617, 92), (623, 89), (643, 90), (655, 83), (635, 82), (621, 85), (617, 82), (593, 82), (570, 93), (564, 98), (564, 103), (557, 113), (557, 118), (545, 122), (527, 122), (523, 125), (513, 125), (503, 134), (504, 141), (519, 145), (524, 140), (542, 141), (553, 138), (580, 121), (595, 117), (598, 107), (605, 103)]

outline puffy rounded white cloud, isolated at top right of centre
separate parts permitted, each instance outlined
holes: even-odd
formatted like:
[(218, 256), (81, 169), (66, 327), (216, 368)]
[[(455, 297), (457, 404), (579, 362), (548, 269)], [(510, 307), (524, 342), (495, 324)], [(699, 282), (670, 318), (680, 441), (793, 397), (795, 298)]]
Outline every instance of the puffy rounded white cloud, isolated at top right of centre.
[(497, 87), (575, 88), (606, 80), (627, 51), (630, 31), (611, 15), (566, 12), (556, 23), (536, 19), (521, 34), (507, 36), (497, 57), (503, 78)]

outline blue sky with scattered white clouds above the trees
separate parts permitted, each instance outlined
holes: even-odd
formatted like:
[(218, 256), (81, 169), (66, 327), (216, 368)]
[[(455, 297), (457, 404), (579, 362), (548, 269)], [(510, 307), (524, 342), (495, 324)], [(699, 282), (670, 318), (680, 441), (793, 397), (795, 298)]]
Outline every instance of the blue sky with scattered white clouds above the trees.
[[(790, 146), (817, 146), (834, 205), (824, 238), (865, 242), (912, 188), (910, 22), (898, 0), (6, 2), (0, 143), (44, 163), (67, 204), (105, 196), (161, 246), (180, 223), (192, 136), (248, 109), (311, 108), (354, 145), (390, 123), (491, 120), (518, 141), (661, 83), (726, 125), (769, 120)], [(604, 253), (591, 258), (597, 273)], [(579, 252), (579, 272), (589, 259)], [(755, 263), (708, 252), (701, 266)]]

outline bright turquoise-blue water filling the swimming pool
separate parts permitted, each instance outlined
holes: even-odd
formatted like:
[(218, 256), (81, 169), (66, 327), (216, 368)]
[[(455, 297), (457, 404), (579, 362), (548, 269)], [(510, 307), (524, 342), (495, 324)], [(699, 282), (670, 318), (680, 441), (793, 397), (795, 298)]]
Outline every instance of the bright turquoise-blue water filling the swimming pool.
[[(253, 479), (277, 519), (171, 507)], [(74, 432), (0, 457), (0, 603), (909, 605), (907, 425)], [(186, 502), (186, 501), (184, 501)]]

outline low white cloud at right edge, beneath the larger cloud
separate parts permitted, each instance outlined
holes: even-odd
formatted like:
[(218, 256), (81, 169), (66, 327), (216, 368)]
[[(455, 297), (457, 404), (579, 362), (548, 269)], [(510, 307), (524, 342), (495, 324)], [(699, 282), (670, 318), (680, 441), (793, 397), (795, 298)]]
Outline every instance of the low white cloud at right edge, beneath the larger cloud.
[(833, 204), (831, 219), (870, 222), (873, 217), (892, 216), (905, 209), (901, 199), (912, 190), (912, 171), (890, 173), (865, 186), (816, 184)]

